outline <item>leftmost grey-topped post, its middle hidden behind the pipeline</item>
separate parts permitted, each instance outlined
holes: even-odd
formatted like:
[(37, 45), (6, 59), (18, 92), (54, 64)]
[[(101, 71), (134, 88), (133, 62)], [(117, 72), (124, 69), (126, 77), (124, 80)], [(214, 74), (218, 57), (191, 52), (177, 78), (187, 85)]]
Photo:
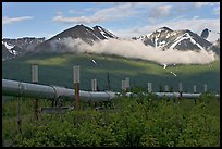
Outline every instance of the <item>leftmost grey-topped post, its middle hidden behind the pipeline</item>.
[[(38, 65), (33, 64), (32, 65), (32, 83), (36, 84), (38, 83)], [(38, 107), (39, 107), (39, 100), (36, 98), (34, 100), (34, 120), (38, 120)]]

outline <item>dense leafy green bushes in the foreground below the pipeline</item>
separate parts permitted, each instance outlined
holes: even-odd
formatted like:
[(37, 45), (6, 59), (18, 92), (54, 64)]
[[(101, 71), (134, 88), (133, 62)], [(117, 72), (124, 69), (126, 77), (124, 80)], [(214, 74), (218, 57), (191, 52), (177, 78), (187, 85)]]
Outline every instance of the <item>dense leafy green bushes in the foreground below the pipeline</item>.
[[(15, 147), (219, 147), (220, 100), (205, 94), (194, 99), (158, 99), (145, 96), (100, 103), (100, 111), (81, 103), (81, 111), (40, 113), (34, 121), (33, 100), (22, 99), (21, 133), (16, 98), (2, 103), (3, 146)], [(63, 101), (71, 105), (73, 101)], [(41, 99), (40, 108), (50, 107)]]

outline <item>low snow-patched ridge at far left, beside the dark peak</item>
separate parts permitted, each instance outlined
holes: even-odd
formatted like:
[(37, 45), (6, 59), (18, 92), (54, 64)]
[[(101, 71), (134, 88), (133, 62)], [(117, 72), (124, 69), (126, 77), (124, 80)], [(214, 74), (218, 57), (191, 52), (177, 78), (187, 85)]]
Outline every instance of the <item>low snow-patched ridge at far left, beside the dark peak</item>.
[(45, 38), (24, 37), (17, 39), (2, 39), (2, 60), (23, 55), (29, 49), (45, 41)]

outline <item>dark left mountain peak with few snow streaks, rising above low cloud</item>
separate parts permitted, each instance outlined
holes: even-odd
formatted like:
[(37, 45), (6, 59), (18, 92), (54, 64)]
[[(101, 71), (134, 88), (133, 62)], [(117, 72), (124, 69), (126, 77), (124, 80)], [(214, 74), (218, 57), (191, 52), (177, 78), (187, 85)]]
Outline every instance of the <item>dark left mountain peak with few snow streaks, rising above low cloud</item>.
[(101, 26), (95, 26), (90, 28), (84, 25), (76, 25), (40, 44), (35, 48), (35, 52), (39, 52), (39, 51), (50, 52), (52, 45), (53, 45), (53, 48), (54, 46), (57, 47), (57, 50), (62, 50), (65, 48), (65, 46), (64, 45), (61, 46), (58, 42), (67, 38), (81, 39), (89, 45), (92, 45), (95, 41), (100, 41), (109, 38), (118, 38), (118, 37)]

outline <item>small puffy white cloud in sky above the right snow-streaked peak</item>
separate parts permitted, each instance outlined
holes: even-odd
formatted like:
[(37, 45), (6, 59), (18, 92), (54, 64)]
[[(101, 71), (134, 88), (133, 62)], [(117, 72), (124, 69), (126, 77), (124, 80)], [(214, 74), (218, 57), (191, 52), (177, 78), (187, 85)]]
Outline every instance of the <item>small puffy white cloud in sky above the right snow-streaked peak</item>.
[(153, 8), (150, 11), (150, 17), (151, 18), (159, 18), (159, 17), (165, 17), (170, 15), (170, 10), (171, 10), (172, 5), (160, 5), (157, 8)]

